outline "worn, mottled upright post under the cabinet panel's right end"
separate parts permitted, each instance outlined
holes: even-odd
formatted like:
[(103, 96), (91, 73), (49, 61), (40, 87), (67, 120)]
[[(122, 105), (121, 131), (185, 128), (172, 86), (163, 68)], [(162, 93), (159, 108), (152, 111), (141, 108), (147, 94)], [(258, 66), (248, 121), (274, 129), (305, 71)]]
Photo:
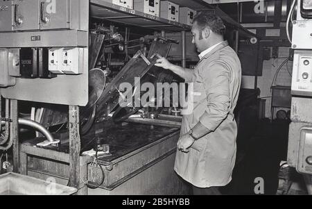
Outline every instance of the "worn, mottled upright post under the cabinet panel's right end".
[(87, 194), (87, 186), (80, 178), (79, 107), (69, 106), (69, 185), (77, 194)]

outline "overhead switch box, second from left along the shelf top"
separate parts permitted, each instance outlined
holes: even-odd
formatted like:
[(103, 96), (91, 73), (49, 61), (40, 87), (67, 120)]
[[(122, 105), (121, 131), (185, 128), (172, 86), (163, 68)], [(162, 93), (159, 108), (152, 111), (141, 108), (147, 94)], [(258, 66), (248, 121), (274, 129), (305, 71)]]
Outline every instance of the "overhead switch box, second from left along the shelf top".
[(159, 17), (160, 1), (159, 0), (135, 0), (135, 10), (144, 12), (148, 15)]

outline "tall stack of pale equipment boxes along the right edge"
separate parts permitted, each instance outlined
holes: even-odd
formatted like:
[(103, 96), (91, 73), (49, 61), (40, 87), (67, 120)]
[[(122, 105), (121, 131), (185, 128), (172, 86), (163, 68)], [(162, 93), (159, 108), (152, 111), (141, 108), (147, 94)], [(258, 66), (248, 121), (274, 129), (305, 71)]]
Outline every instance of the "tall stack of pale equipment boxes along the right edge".
[(293, 1), (297, 3), (297, 18), (293, 22), (293, 59), (291, 126), (288, 141), (288, 164), (306, 175), (308, 191), (312, 193), (312, 1)]

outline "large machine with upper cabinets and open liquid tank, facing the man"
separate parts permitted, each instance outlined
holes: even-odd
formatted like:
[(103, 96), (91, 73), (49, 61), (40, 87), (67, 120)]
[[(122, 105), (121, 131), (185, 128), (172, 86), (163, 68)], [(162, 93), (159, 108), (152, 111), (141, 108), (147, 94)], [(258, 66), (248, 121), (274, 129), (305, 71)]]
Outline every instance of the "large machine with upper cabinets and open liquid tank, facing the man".
[[(135, 95), (135, 78), (141, 84), (173, 80), (154, 64), (175, 40), (130, 33), (99, 17), (110, 17), (107, 5), (133, 14), (131, 2), (0, 3), (0, 151), (12, 147), (14, 172), (52, 177), (76, 187), (77, 194), (187, 192), (173, 171), (181, 117), (169, 114), (170, 107), (120, 105)], [(157, 21), (168, 27), (168, 20)], [(140, 99), (144, 91), (137, 94)]]

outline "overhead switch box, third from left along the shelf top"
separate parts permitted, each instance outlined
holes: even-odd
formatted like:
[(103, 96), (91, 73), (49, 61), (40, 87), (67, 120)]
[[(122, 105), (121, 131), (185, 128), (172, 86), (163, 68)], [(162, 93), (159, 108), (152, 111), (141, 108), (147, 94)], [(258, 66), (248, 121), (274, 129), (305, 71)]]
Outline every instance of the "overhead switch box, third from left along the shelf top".
[(160, 17), (171, 21), (179, 22), (180, 6), (171, 1), (160, 3)]

